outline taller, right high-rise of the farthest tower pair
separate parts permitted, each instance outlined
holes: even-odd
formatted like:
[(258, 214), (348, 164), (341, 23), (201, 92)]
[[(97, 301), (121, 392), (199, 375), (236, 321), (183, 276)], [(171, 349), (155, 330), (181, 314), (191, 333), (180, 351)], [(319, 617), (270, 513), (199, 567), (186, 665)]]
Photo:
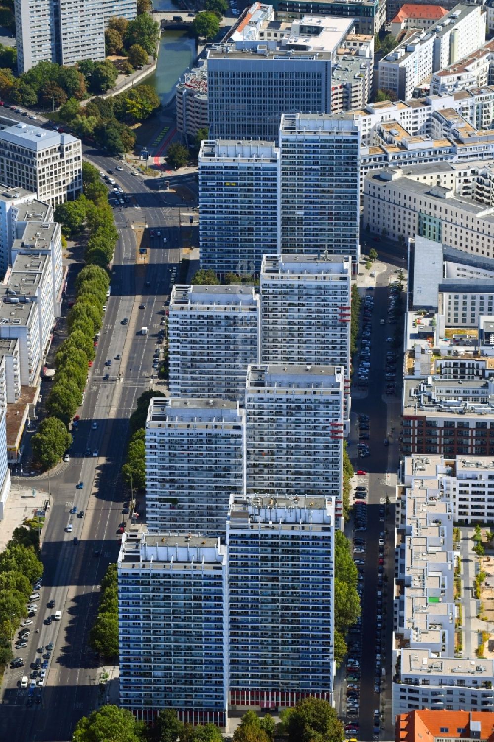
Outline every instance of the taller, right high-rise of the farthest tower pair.
[(352, 116), (283, 114), (279, 198), (277, 252), (349, 255), (358, 265), (360, 133)]

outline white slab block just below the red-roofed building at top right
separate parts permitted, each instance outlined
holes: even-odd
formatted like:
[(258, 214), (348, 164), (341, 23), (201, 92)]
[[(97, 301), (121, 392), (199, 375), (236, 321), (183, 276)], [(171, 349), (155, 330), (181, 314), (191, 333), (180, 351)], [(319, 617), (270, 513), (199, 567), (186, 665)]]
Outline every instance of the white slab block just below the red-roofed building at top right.
[(413, 91), (432, 73), (434, 36), (417, 31), (379, 62), (379, 88), (395, 93), (398, 99), (412, 97)]

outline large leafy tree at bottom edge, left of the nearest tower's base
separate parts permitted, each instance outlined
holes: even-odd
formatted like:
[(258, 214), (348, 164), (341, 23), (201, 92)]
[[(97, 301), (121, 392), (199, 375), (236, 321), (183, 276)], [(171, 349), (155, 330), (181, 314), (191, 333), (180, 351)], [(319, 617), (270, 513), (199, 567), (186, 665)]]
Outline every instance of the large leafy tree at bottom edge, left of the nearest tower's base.
[(145, 739), (144, 724), (127, 709), (102, 706), (88, 718), (76, 723), (73, 742), (141, 742)]

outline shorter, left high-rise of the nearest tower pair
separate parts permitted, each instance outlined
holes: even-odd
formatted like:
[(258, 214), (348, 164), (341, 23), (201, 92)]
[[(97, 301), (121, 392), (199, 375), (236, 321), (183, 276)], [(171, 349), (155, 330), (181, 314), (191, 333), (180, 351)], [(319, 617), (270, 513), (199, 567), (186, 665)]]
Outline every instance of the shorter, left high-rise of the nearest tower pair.
[(225, 727), (226, 547), (131, 528), (117, 570), (119, 706), (146, 722), (173, 709), (185, 722)]

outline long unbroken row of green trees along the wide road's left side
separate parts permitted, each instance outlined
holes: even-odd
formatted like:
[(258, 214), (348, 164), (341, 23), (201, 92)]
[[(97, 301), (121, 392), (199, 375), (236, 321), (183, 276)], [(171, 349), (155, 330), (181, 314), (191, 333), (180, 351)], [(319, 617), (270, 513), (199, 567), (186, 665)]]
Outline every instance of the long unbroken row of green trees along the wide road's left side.
[(108, 263), (113, 258), (118, 234), (108, 203), (108, 190), (99, 171), (83, 165), (84, 194), (57, 206), (56, 221), (67, 237), (88, 234), (86, 266), (76, 279), (76, 301), (67, 317), (67, 339), (56, 352), (56, 374), (47, 399), (48, 417), (33, 436), (33, 459), (43, 469), (59, 462), (72, 442), (67, 430), (87, 383), (95, 356), (94, 336), (102, 325), (103, 305), (110, 285)]

